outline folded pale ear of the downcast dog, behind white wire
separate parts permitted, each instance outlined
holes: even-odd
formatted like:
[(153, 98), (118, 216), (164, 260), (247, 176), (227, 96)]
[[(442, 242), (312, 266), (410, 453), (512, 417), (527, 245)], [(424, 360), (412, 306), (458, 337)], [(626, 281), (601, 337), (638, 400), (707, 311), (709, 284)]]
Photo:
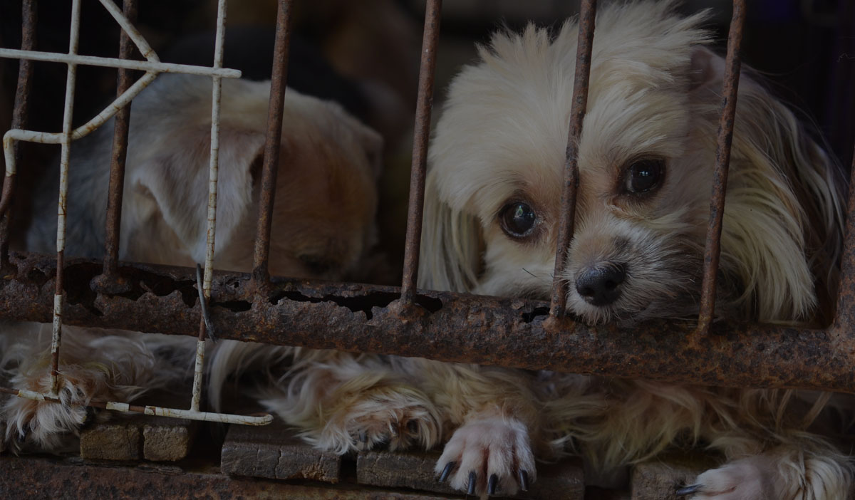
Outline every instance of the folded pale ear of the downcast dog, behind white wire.
[[(195, 262), (207, 248), (210, 128), (180, 129), (168, 145), (130, 170), (133, 189), (153, 198), (153, 205)], [(262, 132), (221, 126), (216, 200), (215, 242), (231, 241), (253, 203), (253, 174), (260, 166)]]

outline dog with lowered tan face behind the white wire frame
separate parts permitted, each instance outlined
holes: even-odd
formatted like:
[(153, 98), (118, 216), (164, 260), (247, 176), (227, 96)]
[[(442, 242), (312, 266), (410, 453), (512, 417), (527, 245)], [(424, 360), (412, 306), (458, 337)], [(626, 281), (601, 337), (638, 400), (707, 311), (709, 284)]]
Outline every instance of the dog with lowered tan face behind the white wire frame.
[[(215, 266), (250, 271), (267, 129), (269, 82), (222, 82)], [(122, 206), (121, 258), (203, 262), (210, 144), (209, 78), (163, 74), (133, 101)], [(111, 122), (110, 122), (111, 123)], [(66, 255), (103, 255), (113, 127), (74, 143)], [(286, 92), (272, 274), (341, 279), (359, 271), (374, 244), (382, 139), (335, 103)], [(56, 248), (58, 171), (38, 191), (29, 250)], [(0, 410), (13, 450), (63, 450), (87, 421), (81, 403), (128, 401), (175, 385), (192, 366), (192, 338), (65, 326), (62, 404), (9, 397)], [(221, 342), (227, 351), (237, 343)], [(8, 323), (0, 368), (18, 389), (50, 389), (50, 326)]]

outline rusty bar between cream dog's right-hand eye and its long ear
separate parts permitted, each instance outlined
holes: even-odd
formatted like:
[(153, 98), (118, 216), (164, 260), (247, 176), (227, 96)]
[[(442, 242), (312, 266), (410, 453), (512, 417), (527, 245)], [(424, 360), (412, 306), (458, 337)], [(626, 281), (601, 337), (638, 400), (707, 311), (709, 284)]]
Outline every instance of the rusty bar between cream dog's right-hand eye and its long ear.
[(734, 0), (734, 15), (730, 21), (730, 32), (728, 32), (728, 56), (724, 68), (722, 115), (718, 122), (716, 170), (712, 178), (710, 225), (706, 232), (704, 284), (701, 288), (700, 312), (696, 330), (698, 335), (706, 335), (709, 332), (712, 317), (716, 312), (716, 274), (718, 273), (718, 259), (722, 251), (724, 195), (728, 190), (730, 144), (734, 138), (736, 97), (740, 86), (740, 45), (742, 44), (742, 26), (745, 25), (745, 17), (745, 0)]

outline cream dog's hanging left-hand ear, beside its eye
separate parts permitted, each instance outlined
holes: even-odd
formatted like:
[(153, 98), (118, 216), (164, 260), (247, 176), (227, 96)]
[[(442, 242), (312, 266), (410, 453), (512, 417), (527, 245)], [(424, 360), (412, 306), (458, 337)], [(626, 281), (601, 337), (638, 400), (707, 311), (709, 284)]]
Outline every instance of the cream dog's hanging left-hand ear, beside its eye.
[(428, 173), (425, 184), (419, 287), (471, 291), (481, 272), (481, 225), (439, 199), (435, 178)]

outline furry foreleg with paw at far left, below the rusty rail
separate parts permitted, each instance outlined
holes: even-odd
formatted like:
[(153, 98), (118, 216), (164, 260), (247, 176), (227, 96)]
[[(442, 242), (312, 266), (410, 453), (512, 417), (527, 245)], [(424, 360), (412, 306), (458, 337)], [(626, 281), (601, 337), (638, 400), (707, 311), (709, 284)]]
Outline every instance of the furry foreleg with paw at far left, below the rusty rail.
[[(3, 367), (15, 389), (50, 392), (50, 325), (7, 325)], [(3, 439), (20, 451), (59, 451), (74, 445), (80, 427), (97, 413), (91, 401), (129, 401), (146, 389), (165, 385), (173, 371), (158, 366), (144, 344), (121, 335), (65, 327), (57, 375), (60, 403), (9, 397), (3, 404)], [(102, 417), (103, 418), (103, 417)]]

